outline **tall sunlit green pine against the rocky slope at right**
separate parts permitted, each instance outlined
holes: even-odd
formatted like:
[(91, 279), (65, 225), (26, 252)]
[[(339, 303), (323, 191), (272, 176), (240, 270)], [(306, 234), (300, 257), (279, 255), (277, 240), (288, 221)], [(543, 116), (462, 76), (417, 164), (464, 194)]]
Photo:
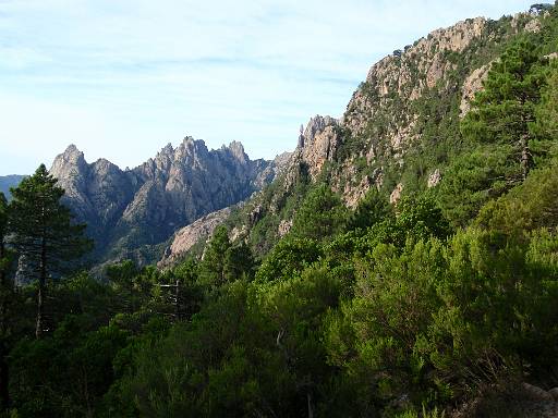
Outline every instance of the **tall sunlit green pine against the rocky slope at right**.
[(537, 121), (547, 73), (548, 60), (523, 40), (493, 63), (461, 122), (465, 149), (440, 187), (445, 214), (454, 225), (466, 225), (486, 201), (523, 182), (546, 157)]

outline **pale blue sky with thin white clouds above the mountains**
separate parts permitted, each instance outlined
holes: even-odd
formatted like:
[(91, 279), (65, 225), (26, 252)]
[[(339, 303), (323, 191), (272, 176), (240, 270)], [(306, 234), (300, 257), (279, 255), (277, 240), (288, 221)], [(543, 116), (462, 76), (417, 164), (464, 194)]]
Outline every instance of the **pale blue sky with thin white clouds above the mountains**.
[(274, 158), (383, 57), (533, 2), (0, 0), (0, 175), (70, 144), (133, 168), (186, 135)]

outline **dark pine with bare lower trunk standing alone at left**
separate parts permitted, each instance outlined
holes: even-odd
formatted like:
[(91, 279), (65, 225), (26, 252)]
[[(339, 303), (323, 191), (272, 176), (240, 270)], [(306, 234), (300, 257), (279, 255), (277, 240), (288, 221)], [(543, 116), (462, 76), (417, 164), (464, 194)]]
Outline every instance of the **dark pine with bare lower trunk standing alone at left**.
[(72, 222), (69, 208), (60, 202), (64, 190), (57, 179), (40, 164), (34, 175), (12, 188), (10, 217), (11, 244), (25, 256), (29, 279), (36, 280), (37, 317), (35, 335), (45, 331), (45, 292), (47, 280), (71, 267), (68, 262), (83, 256), (90, 247), (85, 225)]

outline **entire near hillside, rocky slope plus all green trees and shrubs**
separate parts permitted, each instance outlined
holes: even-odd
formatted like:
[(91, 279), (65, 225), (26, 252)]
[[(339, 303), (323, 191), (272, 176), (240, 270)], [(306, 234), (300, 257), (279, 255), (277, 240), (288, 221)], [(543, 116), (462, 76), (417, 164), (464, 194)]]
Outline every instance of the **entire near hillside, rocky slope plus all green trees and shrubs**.
[(395, 51), (165, 270), (80, 270), (39, 168), (0, 198), (4, 415), (557, 416), (557, 51), (543, 4)]

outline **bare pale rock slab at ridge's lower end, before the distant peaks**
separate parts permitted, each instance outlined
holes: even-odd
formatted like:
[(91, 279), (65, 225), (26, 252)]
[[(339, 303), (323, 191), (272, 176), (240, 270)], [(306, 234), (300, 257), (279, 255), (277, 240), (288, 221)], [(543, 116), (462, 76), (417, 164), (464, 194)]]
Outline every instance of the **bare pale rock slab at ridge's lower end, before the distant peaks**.
[(172, 244), (165, 250), (165, 255), (157, 266), (165, 268), (175, 263), (195, 244), (211, 236), (215, 229), (223, 223), (230, 213), (231, 209), (225, 208), (216, 212), (211, 212), (179, 230), (174, 234)]

